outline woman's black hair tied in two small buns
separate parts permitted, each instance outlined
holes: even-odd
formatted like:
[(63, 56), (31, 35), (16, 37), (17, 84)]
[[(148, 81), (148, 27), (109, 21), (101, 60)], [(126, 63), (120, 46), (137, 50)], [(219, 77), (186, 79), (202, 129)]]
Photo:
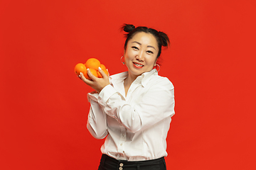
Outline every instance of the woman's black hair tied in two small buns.
[(159, 47), (159, 52), (157, 54), (158, 58), (161, 55), (161, 47), (167, 47), (170, 43), (168, 36), (166, 35), (166, 33), (163, 33), (161, 31), (157, 31), (153, 28), (147, 28), (144, 26), (138, 26), (135, 28), (135, 26), (133, 26), (132, 24), (124, 24), (122, 26), (122, 30), (124, 30), (124, 32), (127, 32), (126, 34), (124, 34), (124, 37), (126, 38), (125, 42), (124, 42), (124, 50), (126, 50), (127, 48), (127, 42), (132, 39), (132, 37), (136, 34), (136, 33), (140, 33), (140, 32), (144, 32), (144, 33), (151, 33), (152, 35), (154, 35), (154, 37), (156, 38), (158, 47)]

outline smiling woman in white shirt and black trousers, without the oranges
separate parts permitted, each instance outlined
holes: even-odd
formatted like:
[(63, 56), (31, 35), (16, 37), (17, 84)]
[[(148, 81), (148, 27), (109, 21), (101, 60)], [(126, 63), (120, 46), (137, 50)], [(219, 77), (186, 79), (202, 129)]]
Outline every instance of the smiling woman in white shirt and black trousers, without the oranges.
[(80, 78), (95, 89), (90, 101), (87, 129), (101, 147), (99, 170), (166, 169), (166, 136), (174, 115), (174, 86), (154, 67), (161, 47), (168, 46), (165, 33), (152, 28), (124, 25), (126, 34), (122, 64), (127, 72), (101, 79)]

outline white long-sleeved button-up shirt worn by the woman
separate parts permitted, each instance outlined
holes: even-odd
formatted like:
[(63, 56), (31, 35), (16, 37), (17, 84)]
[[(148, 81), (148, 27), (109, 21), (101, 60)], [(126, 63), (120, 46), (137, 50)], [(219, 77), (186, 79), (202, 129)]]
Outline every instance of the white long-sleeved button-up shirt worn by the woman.
[(97, 139), (107, 136), (101, 152), (115, 159), (166, 157), (166, 136), (174, 115), (174, 86), (152, 69), (137, 77), (125, 96), (127, 75), (114, 74), (100, 94), (87, 94), (91, 103), (87, 129)]

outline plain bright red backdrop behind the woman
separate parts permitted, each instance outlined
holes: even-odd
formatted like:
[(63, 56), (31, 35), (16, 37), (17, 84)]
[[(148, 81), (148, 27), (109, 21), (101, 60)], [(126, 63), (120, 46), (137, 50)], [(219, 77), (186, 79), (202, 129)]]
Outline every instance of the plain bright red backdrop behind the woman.
[(92, 91), (74, 67), (123, 72), (123, 23), (169, 35), (168, 169), (255, 169), (255, 1), (1, 1), (0, 169), (97, 169)]

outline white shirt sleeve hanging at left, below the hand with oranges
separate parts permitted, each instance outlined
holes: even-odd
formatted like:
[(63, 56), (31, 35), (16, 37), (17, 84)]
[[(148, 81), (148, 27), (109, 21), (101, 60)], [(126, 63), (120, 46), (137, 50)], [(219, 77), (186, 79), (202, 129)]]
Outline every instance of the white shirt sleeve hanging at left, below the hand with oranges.
[(107, 136), (107, 115), (102, 111), (97, 103), (98, 94), (87, 94), (90, 102), (90, 111), (88, 114), (87, 129), (96, 139), (103, 139)]

